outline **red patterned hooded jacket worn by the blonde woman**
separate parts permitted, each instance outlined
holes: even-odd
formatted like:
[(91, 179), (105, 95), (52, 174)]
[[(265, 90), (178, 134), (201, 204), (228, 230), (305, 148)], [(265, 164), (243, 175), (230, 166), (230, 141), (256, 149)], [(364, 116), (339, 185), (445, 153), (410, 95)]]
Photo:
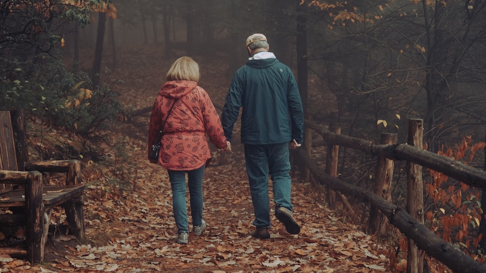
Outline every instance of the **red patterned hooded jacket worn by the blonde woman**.
[(211, 157), (206, 134), (219, 149), (226, 147), (221, 119), (208, 93), (195, 81), (168, 81), (160, 89), (150, 116), (148, 155), (174, 101), (163, 130), (158, 163), (169, 170), (195, 170)]

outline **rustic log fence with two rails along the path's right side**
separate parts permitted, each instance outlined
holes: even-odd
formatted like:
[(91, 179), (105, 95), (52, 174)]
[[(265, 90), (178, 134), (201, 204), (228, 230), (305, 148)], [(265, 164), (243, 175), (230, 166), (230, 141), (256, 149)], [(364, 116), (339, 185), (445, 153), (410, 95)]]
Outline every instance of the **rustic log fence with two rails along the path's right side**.
[[(435, 235), (429, 228), (423, 225), (423, 185), (421, 169), (426, 167), (437, 172), (441, 172), (449, 177), (455, 178), (469, 186), (486, 189), (486, 172), (468, 166), (462, 162), (452, 160), (451, 158), (434, 154), (423, 150), (422, 134), (423, 121), (421, 119), (409, 120), (408, 140), (405, 144), (395, 144), (396, 135), (382, 135), (382, 143), (373, 144), (371, 141), (354, 138), (339, 133), (330, 132), (326, 128), (316, 125), (310, 121), (305, 121), (305, 128), (313, 130), (324, 139), (328, 145), (328, 160), (326, 171), (318, 166), (310, 157), (311, 143), (306, 139), (306, 146), (296, 150), (298, 156), (309, 169), (309, 173), (323, 185), (328, 187), (329, 193), (345, 194), (358, 198), (363, 202), (369, 202), (373, 209), (379, 209), (385, 215), (389, 223), (397, 227), (403, 234), (409, 238), (407, 272), (423, 272), (423, 252), (434, 257), (454, 272), (462, 273), (484, 273), (486, 265), (480, 264), (472, 257), (464, 253), (453, 244), (442, 240)], [(307, 135), (311, 135), (307, 133)], [(378, 160), (377, 171), (377, 190), (389, 193), (390, 182), (393, 177), (393, 162), (406, 161), (407, 169), (407, 207), (402, 208), (392, 204), (391, 195), (377, 194), (361, 187), (354, 186), (333, 175), (333, 170), (337, 170), (337, 147), (344, 146), (362, 151), (368, 155), (376, 156)], [(383, 188), (384, 187), (384, 188)], [(389, 193), (391, 194), (391, 193)], [(411, 199), (415, 198), (415, 199)], [(370, 215), (370, 223), (373, 229), (380, 228), (380, 220), (377, 215)], [(374, 221), (374, 223), (373, 223)], [(419, 249), (423, 250), (420, 251)]]

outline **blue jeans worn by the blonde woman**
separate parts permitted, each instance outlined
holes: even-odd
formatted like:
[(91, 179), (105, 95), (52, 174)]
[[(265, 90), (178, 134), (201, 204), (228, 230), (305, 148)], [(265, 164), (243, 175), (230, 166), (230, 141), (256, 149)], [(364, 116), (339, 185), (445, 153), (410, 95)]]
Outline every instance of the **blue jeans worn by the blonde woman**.
[(177, 233), (187, 232), (187, 207), (186, 207), (186, 173), (189, 187), (189, 200), (191, 203), (192, 225), (203, 224), (203, 177), (205, 166), (192, 171), (167, 170), (172, 188), (172, 208), (174, 210)]

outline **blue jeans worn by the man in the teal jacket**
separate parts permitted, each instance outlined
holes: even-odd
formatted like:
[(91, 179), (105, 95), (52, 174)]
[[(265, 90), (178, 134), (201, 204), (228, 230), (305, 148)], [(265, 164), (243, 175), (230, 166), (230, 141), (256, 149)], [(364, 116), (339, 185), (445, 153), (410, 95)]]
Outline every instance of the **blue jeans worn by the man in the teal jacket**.
[(251, 200), (255, 212), (253, 225), (270, 226), (268, 175), (272, 179), (275, 209), (283, 207), (292, 212), (289, 144), (244, 145), (246, 172), (250, 182)]

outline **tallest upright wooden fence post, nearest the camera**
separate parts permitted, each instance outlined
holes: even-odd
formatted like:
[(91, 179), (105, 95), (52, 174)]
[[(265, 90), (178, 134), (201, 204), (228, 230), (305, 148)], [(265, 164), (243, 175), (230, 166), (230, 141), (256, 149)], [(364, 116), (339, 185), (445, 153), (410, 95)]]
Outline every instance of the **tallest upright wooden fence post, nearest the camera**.
[[(408, 120), (408, 145), (423, 147), (423, 120)], [(408, 213), (424, 223), (422, 167), (407, 161), (407, 210)], [(424, 255), (412, 239), (408, 239), (407, 273), (423, 273)]]

